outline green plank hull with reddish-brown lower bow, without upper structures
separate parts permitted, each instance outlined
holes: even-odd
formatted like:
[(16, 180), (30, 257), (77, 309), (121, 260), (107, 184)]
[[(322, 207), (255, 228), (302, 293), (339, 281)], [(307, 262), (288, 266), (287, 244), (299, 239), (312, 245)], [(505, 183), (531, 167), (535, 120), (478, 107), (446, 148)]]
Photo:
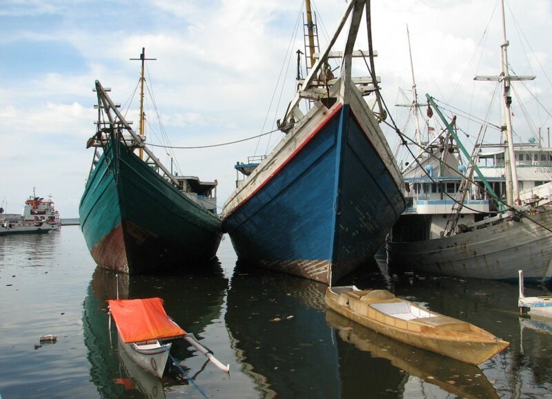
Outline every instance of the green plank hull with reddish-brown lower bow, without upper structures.
[(130, 274), (183, 269), (215, 257), (219, 218), (112, 139), (79, 206), (88, 249), (99, 267)]

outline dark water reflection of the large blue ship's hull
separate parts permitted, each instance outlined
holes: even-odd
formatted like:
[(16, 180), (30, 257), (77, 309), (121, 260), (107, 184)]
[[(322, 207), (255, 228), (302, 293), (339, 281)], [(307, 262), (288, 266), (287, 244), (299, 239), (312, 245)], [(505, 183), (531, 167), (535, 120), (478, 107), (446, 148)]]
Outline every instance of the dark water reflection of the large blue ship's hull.
[[(404, 379), (396, 367), (355, 353), (362, 378), (353, 384), (326, 323), (326, 285), (282, 273), (245, 269), (238, 262), (228, 292), (226, 327), (242, 371), (265, 398), (388, 396)], [(369, 372), (366, 372), (369, 370)], [(353, 370), (350, 370), (353, 371)], [(362, 395), (361, 395), (362, 394)], [(382, 397), (380, 396), (380, 397)]]

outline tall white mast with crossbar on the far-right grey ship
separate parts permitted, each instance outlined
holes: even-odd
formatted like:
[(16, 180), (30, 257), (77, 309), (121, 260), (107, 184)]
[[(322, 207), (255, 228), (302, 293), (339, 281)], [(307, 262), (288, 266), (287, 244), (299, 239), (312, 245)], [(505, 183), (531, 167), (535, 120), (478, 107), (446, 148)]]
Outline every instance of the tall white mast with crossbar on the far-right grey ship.
[(512, 97), (510, 95), (511, 81), (533, 80), (534, 76), (515, 76), (511, 77), (508, 70), (508, 46), (506, 39), (506, 19), (504, 17), (504, 0), (500, 1), (502, 11), (502, 44), (500, 45), (500, 76), (476, 76), (475, 80), (500, 81), (502, 83), (502, 131), (504, 133), (504, 144), (507, 143), (507, 152), (504, 150), (504, 174), (506, 175), (506, 204), (509, 206), (519, 205), (520, 189), (517, 182), (517, 168), (515, 166), (515, 152), (513, 150), (512, 133)]

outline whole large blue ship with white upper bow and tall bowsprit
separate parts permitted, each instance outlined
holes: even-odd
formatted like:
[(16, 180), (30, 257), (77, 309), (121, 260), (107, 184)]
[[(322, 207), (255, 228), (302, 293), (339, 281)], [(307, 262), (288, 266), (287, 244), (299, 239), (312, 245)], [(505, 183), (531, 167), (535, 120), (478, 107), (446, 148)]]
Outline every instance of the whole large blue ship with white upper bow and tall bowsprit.
[[(373, 257), (404, 211), (402, 177), (378, 126), (383, 112), (375, 115), (363, 97), (375, 95), (377, 79), (351, 77), (353, 57), (368, 57), (352, 50), (365, 3), (348, 3), (333, 39), (299, 81), (278, 121), (284, 139), (257, 165), (236, 165), (247, 177), (222, 218), (244, 262), (332, 284)], [(350, 14), (345, 51), (331, 52)], [(334, 57), (342, 58), (339, 79), (328, 69)], [(304, 98), (313, 99), (306, 114)]]

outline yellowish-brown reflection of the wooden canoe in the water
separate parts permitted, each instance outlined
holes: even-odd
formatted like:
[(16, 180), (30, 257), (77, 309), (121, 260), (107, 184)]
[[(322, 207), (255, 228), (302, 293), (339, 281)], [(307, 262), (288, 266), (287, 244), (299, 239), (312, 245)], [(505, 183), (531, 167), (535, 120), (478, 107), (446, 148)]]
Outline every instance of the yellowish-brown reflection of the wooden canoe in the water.
[(348, 385), (347, 379), (365, 378), (365, 374), (372, 373), (372, 369), (366, 369), (361, 353), (355, 350), (359, 349), (371, 353), (373, 358), (386, 359), (404, 371), (400, 386), (405, 393), (428, 393), (431, 387), (427, 384), (430, 384), (461, 398), (499, 398), (477, 366), (393, 340), (331, 309), (326, 312), (326, 322), (339, 337), (339, 373), (344, 386)]

